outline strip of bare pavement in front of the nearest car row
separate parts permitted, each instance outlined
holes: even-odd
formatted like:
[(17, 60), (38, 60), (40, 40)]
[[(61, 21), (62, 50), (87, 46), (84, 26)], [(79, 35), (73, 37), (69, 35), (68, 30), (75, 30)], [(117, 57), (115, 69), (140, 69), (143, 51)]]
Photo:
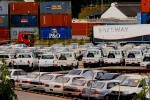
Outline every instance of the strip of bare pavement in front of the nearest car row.
[(18, 96), (18, 100), (68, 100), (59, 97), (45, 96), (21, 91), (16, 91), (16, 94)]

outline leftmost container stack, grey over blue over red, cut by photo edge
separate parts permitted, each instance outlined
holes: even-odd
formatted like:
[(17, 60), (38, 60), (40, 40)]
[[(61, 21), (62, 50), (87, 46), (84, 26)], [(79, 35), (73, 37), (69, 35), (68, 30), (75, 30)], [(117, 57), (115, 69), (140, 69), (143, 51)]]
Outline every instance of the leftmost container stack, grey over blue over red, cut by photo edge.
[(0, 39), (9, 39), (8, 3), (0, 2)]

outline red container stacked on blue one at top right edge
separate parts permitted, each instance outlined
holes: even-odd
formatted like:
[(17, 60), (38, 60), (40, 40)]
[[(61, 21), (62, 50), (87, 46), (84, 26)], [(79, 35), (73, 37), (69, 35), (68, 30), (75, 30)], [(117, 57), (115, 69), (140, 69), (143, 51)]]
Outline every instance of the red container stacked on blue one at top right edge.
[(150, 0), (141, 0), (141, 13), (138, 14), (139, 24), (150, 24)]

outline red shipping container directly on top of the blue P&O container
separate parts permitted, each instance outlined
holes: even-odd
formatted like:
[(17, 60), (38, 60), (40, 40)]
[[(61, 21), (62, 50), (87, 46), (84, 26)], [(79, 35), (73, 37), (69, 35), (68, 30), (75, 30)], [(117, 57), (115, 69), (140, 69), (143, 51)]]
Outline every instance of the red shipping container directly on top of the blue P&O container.
[(40, 26), (41, 27), (71, 27), (72, 25), (71, 14), (41, 14)]

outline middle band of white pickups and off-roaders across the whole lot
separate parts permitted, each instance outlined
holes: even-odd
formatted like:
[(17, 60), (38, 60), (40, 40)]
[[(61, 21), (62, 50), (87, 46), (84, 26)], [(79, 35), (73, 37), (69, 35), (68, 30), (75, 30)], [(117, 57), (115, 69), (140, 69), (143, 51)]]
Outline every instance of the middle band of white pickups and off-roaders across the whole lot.
[[(99, 44), (79, 45), (72, 43), (63, 46), (54, 44), (50, 47), (27, 47), (24, 44), (0, 46), (0, 59), (5, 59), (8, 66), (34, 69), (40, 66), (77, 68), (79, 60), (84, 67), (99, 67), (106, 65), (150, 65), (150, 45)], [(2, 63), (1, 63), (2, 64)], [(26, 66), (26, 67), (25, 67)]]

